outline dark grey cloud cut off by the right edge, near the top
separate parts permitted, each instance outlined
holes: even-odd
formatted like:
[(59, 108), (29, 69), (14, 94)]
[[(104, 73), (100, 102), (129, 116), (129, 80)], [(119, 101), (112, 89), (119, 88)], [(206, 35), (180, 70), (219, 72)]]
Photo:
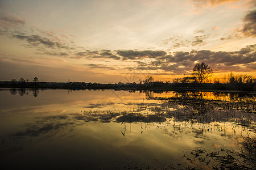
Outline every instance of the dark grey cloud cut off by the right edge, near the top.
[(250, 11), (243, 18), (245, 23), (242, 28), (242, 33), (245, 36), (256, 36), (256, 10)]

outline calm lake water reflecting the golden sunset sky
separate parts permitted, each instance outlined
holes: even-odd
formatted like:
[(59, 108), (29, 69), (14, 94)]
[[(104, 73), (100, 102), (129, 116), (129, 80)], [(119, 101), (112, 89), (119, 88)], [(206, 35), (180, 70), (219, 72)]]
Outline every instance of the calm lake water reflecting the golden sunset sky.
[(0, 97), (4, 169), (255, 167), (254, 95), (2, 89)]

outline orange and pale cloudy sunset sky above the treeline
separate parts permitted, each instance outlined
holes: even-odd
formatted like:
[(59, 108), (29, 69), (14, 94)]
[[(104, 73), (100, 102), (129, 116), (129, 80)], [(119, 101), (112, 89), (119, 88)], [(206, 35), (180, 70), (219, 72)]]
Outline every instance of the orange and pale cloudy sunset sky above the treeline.
[(0, 0), (0, 80), (256, 78), (253, 0)]

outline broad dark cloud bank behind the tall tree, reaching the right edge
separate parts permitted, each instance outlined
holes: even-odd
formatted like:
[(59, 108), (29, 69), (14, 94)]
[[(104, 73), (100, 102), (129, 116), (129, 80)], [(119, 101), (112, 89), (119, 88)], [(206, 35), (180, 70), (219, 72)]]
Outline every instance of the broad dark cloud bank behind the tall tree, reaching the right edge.
[(195, 62), (205, 62), (214, 71), (255, 71), (256, 44), (248, 45), (236, 52), (213, 52), (210, 50), (192, 50), (174, 52), (172, 55), (155, 57), (154, 61), (138, 61), (138, 70), (171, 71), (172, 74), (185, 74), (192, 70)]

